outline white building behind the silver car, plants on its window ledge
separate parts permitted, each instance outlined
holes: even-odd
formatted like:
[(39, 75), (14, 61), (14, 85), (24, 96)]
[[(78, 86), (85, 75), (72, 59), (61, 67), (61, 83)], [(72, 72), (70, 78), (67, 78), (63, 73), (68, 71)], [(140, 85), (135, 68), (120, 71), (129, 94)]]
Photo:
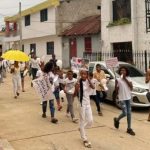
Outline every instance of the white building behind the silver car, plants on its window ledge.
[(112, 51), (120, 60), (133, 63), (137, 59), (134, 57), (136, 51), (149, 52), (149, 9), (148, 0), (102, 0), (102, 51)]

